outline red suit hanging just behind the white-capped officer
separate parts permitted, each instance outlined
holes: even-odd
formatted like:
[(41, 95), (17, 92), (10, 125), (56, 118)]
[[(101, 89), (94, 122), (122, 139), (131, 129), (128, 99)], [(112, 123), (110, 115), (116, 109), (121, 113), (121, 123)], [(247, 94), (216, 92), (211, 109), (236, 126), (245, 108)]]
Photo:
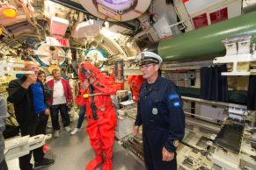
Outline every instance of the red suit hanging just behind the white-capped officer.
[(143, 84), (143, 75), (128, 75), (128, 84), (133, 92), (133, 100), (138, 102), (139, 100), (139, 91)]

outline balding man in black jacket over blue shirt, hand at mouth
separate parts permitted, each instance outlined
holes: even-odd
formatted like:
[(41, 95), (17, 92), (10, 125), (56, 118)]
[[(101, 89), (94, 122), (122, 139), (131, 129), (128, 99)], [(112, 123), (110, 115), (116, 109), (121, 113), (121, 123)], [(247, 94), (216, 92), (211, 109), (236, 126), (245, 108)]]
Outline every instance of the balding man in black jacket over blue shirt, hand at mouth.
[[(10, 81), (7, 100), (14, 103), (15, 115), (20, 125), (21, 136), (46, 134), (49, 106), (41, 81), (37, 79), (39, 68), (33, 61), (25, 62), (25, 69), (34, 74), (25, 74), (20, 79)], [(30, 163), (32, 151), (19, 158), (21, 170), (32, 170), (52, 165), (54, 159), (44, 158), (42, 146), (33, 150), (34, 168)]]

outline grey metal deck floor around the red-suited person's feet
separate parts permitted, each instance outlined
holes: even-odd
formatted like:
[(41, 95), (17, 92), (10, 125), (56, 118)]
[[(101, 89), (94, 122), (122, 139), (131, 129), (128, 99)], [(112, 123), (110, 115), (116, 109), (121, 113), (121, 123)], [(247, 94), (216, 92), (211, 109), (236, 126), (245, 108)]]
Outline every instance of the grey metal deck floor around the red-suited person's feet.
[[(77, 121), (70, 124), (71, 129), (75, 128)], [(87, 123), (84, 121), (82, 131), (70, 136), (69, 132), (61, 130), (59, 138), (48, 139), (47, 145), (51, 150), (46, 154), (47, 158), (55, 159), (55, 164), (43, 170), (84, 170), (85, 166), (94, 158), (94, 152), (89, 143), (89, 136), (85, 127)], [(18, 159), (7, 162), (10, 170), (18, 170)], [(101, 166), (97, 170), (101, 169)], [(145, 166), (143, 162), (135, 158), (132, 153), (125, 150), (117, 141), (113, 145), (113, 170), (143, 170)]]

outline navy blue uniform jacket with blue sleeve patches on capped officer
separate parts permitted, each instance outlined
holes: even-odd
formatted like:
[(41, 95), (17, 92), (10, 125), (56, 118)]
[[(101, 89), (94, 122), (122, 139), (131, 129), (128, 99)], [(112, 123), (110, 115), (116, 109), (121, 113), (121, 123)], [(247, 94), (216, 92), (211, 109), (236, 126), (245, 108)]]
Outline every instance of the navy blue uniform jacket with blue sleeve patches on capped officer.
[(140, 89), (135, 125), (143, 124), (143, 131), (166, 131), (165, 148), (168, 152), (175, 152), (177, 145), (173, 144), (181, 141), (185, 133), (183, 102), (178, 88), (172, 81), (160, 76), (148, 92), (147, 83), (144, 81)]

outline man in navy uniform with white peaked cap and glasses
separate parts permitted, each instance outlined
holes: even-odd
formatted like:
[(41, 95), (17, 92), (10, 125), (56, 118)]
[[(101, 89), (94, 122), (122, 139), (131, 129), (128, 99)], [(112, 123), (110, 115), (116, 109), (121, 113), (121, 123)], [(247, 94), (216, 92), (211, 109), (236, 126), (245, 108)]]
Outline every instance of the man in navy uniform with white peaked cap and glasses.
[(178, 88), (158, 74), (162, 59), (156, 53), (139, 54), (143, 78), (134, 135), (143, 124), (143, 152), (148, 170), (177, 169), (176, 149), (184, 137), (185, 116)]

